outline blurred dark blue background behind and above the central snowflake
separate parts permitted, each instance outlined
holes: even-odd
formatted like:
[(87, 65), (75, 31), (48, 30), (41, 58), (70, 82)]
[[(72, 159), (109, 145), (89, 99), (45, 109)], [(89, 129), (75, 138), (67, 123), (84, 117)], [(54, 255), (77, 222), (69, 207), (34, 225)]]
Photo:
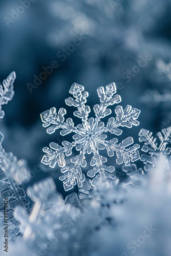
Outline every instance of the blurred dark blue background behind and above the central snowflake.
[[(110, 82), (116, 83), (123, 108), (141, 110), (140, 125), (125, 130), (123, 138), (133, 136), (138, 143), (141, 128), (156, 133), (170, 125), (170, 11), (170, 0), (1, 1), (0, 79), (12, 71), (17, 76), (15, 96), (3, 108), (3, 143), (31, 169), (39, 165), (46, 171), (32, 183), (52, 175), (64, 192), (60, 168), (50, 173), (40, 165), (42, 147), (63, 138), (59, 131), (48, 135), (39, 114), (66, 108), (73, 82), (89, 92), (92, 110), (99, 102), (97, 88)], [(73, 118), (74, 108), (66, 109)]]

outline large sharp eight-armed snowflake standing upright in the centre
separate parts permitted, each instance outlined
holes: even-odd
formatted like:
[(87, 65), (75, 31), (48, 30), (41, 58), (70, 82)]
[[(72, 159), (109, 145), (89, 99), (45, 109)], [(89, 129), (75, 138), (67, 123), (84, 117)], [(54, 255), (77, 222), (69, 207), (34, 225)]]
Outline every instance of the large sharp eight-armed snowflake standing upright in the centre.
[[(114, 166), (106, 166), (104, 164), (107, 159), (99, 154), (99, 150), (106, 149), (110, 157), (114, 156), (114, 152), (116, 152), (117, 164), (124, 162), (125, 165), (130, 165), (130, 162), (139, 159), (139, 153), (137, 151), (139, 145), (132, 145), (134, 142), (132, 137), (124, 139), (119, 144), (117, 143), (117, 138), (113, 138), (109, 141), (105, 140), (107, 137), (105, 133), (107, 132), (119, 136), (122, 133), (119, 127), (126, 126), (131, 128), (133, 125), (139, 124), (136, 119), (140, 111), (135, 108), (132, 109), (130, 105), (127, 105), (124, 110), (122, 106), (116, 106), (116, 118), (111, 117), (106, 126), (101, 122), (102, 118), (112, 113), (108, 106), (121, 102), (121, 97), (115, 95), (115, 83), (108, 84), (105, 89), (103, 87), (97, 89), (100, 105), (96, 104), (94, 106), (95, 119), (93, 117), (88, 119), (90, 107), (85, 105), (85, 103), (87, 102), (89, 94), (84, 91), (84, 87), (73, 83), (70, 93), (73, 95), (73, 98), (67, 98), (66, 104), (77, 108), (77, 111), (74, 112), (74, 116), (79, 117), (82, 120), (82, 124), (78, 124), (75, 127), (71, 118), (65, 121), (64, 116), (67, 112), (63, 108), (59, 109), (58, 114), (55, 108), (51, 108), (40, 114), (43, 126), (48, 127), (48, 134), (54, 133), (55, 130), (59, 128), (62, 129), (60, 131), (62, 136), (71, 132), (74, 133), (73, 142), (63, 141), (63, 147), (54, 142), (50, 143), (50, 148), (44, 147), (43, 151), (47, 154), (41, 160), (42, 163), (52, 168), (54, 168), (58, 162), (58, 165), (62, 167), (61, 172), (63, 173), (59, 179), (63, 181), (65, 190), (73, 188), (76, 182), (78, 187), (82, 186), (85, 176), (82, 174), (81, 167), (86, 167), (87, 165), (85, 158), (86, 153), (93, 154), (90, 163), (93, 169), (89, 170), (87, 173), (89, 177), (94, 177), (92, 185), (95, 185), (95, 182), (101, 178), (115, 179), (115, 176), (111, 174), (115, 170)], [(132, 146), (128, 147), (130, 145)], [(70, 156), (73, 147), (76, 147), (76, 150), (79, 151), (79, 155), (71, 158), (72, 165), (66, 166), (65, 155)]]

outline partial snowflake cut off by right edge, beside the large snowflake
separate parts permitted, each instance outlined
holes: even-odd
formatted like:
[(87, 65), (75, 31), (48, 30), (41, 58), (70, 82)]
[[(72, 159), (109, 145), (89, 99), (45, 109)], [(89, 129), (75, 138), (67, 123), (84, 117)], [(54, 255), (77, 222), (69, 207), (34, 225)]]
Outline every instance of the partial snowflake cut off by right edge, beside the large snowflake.
[(141, 155), (141, 161), (145, 164), (144, 170), (148, 171), (155, 166), (158, 159), (165, 161), (167, 168), (170, 170), (170, 152), (171, 148), (168, 146), (171, 142), (171, 126), (163, 129), (162, 132), (157, 133), (159, 142), (152, 132), (141, 129), (139, 133), (139, 141), (144, 142), (141, 151), (145, 154)]

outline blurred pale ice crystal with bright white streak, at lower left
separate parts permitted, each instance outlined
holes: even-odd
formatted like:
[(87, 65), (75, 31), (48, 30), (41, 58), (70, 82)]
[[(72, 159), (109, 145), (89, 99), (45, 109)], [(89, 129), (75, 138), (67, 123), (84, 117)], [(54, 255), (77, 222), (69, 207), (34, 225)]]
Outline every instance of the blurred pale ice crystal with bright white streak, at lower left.
[(35, 183), (27, 189), (28, 196), (34, 201), (30, 216), (22, 208), (16, 208), (14, 216), (19, 219), (24, 239), (35, 239), (36, 233), (41, 231), (41, 236), (48, 232), (48, 224), (44, 226), (40, 223), (46, 219), (47, 215), (55, 214), (55, 206), (62, 208), (62, 200), (60, 195), (56, 193), (56, 186), (52, 178), (46, 178)]

